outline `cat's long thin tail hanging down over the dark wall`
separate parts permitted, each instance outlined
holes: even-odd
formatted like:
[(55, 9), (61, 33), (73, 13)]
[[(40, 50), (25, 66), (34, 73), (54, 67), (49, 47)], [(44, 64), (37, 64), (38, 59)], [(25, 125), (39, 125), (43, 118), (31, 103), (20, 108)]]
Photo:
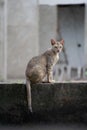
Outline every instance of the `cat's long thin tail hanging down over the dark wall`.
[(30, 80), (26, 78), (26, 88), (27, 88), (27, 102), (28, 102), (28, 109), (30, 112), (32, 111), (32, 98), (31, 98), (31, 86), (30, 86)]

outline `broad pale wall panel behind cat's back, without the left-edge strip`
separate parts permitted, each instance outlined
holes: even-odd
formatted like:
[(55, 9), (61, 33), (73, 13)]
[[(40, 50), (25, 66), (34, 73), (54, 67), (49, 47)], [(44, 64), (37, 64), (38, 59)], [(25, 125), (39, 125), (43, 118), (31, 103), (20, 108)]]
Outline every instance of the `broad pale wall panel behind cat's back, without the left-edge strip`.
[(24, 78), (26, 64), (38, 54), (37, 0), (8, 0), (8, 78)]

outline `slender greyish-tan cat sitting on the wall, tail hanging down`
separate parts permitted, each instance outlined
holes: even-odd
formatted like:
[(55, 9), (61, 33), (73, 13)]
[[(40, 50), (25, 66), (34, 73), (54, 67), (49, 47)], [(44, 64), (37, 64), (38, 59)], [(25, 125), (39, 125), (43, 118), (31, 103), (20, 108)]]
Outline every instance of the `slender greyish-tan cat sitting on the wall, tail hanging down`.
[[(28, 108), (32, 112), (31, 102), (31, 86), (30, 84), (48, 82), (53, 83), (53, 67), (59, 60), (59, 53), (63, 49), (64, 40), (56, 41), (51, 39), (52, 48), (45, 53), (33, 57), (26, 68), (26, 88), (27, 88), (27, 100)], [(45, 77), (47, 79), (44, 81)]]

